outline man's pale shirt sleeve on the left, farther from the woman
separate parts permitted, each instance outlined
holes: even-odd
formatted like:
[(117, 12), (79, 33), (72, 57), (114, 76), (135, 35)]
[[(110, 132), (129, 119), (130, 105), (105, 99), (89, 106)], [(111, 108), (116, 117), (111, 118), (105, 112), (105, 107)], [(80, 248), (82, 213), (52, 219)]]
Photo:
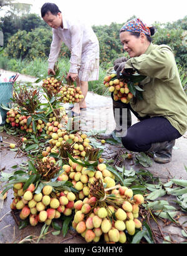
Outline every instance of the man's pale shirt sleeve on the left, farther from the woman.
[(58, 34), (53, 30), (52, 33), (52, 43), (50, 44), (50, 54), (48, 58), (48, 68), (53, 69), (55, 62), (59, 57), (60, 47), (62, 44), (62, 40), (59, 38)]

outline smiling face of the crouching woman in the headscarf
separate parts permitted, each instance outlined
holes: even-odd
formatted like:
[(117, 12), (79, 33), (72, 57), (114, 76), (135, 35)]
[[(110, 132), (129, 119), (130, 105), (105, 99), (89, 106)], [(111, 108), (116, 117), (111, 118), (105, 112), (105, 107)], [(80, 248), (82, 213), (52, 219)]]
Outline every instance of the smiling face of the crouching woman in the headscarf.
[(130, 58), (138, 57), (145, 53), (145, 40), (146, 36), (144, 33), (140, 33), (139, 38), (133, 36), (128, 31), (120, 33), (120, 41), (123, 44), (123, 49), (127, 51)]

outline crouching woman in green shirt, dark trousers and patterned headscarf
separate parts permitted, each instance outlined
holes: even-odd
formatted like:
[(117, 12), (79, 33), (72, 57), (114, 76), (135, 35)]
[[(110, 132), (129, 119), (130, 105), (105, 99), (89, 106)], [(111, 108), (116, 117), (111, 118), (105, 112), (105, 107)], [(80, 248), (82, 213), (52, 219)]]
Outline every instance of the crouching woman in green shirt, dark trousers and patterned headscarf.
[[(125, 74), (130, 69), (146, 78), (139, 84), (144, 90), (143, 100), (132, 98), (128, 104), (113, 101), (113, 110), (120, 108), (122, 121), (122, 109), (127, 108), (128, 129), (126, 135), (122, 136), (123, 146), (127, 150), (149, 151), (154, 153), (156, 162), (168, 163), (175, 140), (187, 128), (187, 97), (171, 48), (164, 44), (152, 44), (151, 36), (154, 33), (155, 29), (148, 28), (140, 19), (128, 21), (120, 29), (120, 41), (130, 59), (115, 61), (114, 69), (118, 78), (120, 72)], [(140, 120), (132, 126), (130, 110)], [(119, 127), (118, 123), (115, 131), (121, 130)]]

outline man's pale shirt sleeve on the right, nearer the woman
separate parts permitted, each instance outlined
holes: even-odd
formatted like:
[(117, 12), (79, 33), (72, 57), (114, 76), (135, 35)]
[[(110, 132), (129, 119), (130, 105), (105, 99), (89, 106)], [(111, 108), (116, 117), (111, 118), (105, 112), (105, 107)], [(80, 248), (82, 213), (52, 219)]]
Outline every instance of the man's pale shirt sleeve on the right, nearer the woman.
[(70, 58), (70, 73), (78, 73), (82, 56), (82, 36), (83, 31), (79, 24), (70, 27), (71, 34), (71, 58)]

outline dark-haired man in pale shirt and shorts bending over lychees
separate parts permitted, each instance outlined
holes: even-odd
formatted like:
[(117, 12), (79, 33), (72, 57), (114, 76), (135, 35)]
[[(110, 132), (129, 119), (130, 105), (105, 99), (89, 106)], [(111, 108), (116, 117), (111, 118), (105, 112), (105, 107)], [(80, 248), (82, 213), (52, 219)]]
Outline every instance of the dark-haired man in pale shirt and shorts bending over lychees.
[(84, 99), (76, 103), (73, 114), (80, 114), (80, 110), (87, 108), (85, 97), (88, 92), (88, 81), (98, 80), (99, 73), (99, 44), (93, 29), (78, 19), (65, 16), (58, 6), (45, 3), (41, 8), (41, 16), (52, 28), (52, 43), (50, 45), (48, 74), (55, 74), (54, 64), (59, 56), (60, 47), (64, 42), (70, 49), (70, 69), (67, 79), (80, 86)]

